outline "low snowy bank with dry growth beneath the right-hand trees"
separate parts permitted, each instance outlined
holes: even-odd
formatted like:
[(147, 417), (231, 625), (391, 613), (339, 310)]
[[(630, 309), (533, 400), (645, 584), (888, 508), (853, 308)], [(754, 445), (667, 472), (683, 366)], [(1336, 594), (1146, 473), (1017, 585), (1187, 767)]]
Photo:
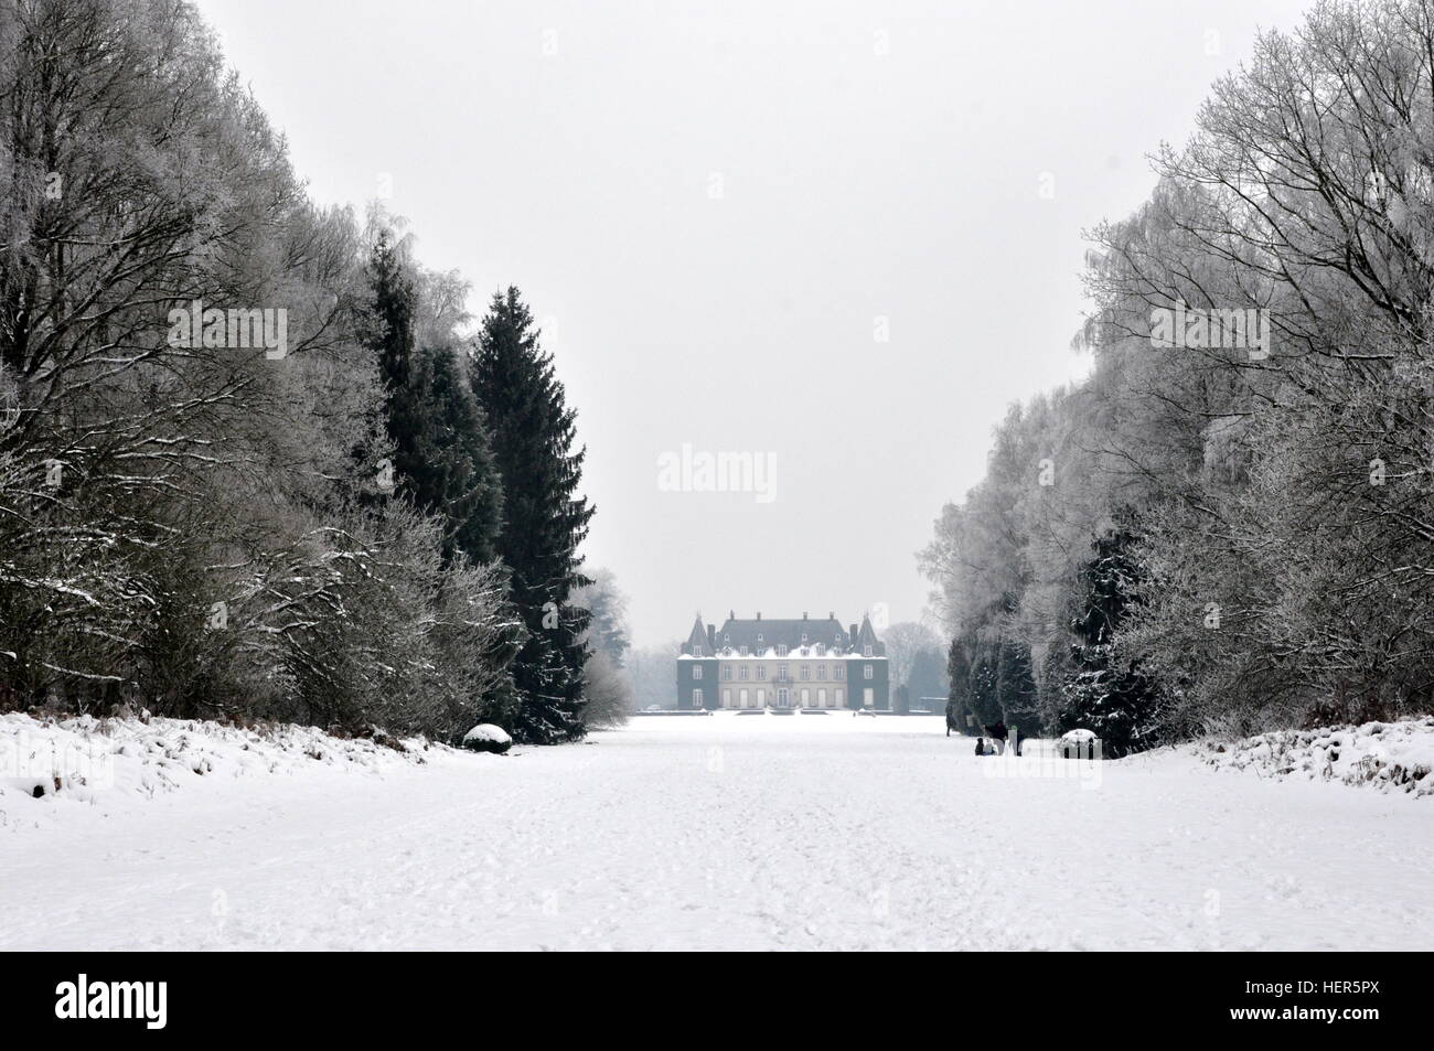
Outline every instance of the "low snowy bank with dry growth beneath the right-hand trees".
[(1434, 796), (1434, 718), (1276, 730), (1233, 744), (1206, 741), (1197, 753), (1216, 769)]

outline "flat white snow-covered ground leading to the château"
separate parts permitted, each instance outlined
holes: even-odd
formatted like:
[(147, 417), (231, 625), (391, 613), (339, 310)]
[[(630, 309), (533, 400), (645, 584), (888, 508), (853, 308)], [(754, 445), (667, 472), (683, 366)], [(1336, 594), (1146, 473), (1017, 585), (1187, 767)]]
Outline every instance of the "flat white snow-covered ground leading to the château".
[(11, 767), (125, 750), (42, 799), (0, 771), (0, 948), (1434, 949), (1431, 800), (1190, 750), (1002, 761), (840, 714), (505, 757), (79, 728), (0, 718)]

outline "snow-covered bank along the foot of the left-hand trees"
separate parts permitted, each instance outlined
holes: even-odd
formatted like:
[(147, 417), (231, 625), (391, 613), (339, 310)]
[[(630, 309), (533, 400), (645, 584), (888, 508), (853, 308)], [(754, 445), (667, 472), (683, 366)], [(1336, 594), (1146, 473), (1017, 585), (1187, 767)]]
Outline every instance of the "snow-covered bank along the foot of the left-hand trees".
[(43, 802), (153, 797), (199, 783), (311, 770), (381, 773), (452, 748), (383, 733), (344, 738), (314, 727), (238, 727), (174, 718), (0, 715), (0, 824)]

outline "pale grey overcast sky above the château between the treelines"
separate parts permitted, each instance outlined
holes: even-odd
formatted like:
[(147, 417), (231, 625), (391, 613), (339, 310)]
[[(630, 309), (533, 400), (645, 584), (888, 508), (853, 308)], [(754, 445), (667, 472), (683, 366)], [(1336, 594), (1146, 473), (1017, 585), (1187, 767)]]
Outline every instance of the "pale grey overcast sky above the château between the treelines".
[[(1005, 406), (1087, 367), (1081, 229), (1308, 6), (199, 3), (315, 199), (391, 188), (475, 313), (516, 284), (543, 320), (638, 642), (918, 619)], [(671, 492), (684, 444), (774, 473)]]

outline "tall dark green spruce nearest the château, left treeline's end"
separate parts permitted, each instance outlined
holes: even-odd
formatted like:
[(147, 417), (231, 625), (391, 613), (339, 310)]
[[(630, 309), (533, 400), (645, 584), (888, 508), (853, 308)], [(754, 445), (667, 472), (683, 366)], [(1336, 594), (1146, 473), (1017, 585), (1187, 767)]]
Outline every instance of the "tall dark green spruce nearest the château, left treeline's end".
[(498, 551), (529, 634), (512, 665), (522, 697), (516, 736), (542, 744), (576, 740), (588, 614), (569, 598), (588, 584), (576, 552), (594, 508), (576, 496), (584, 459), (574, 449), (576, 413), (516, 288), (493, 297), (470, 374), (503, 483)]

